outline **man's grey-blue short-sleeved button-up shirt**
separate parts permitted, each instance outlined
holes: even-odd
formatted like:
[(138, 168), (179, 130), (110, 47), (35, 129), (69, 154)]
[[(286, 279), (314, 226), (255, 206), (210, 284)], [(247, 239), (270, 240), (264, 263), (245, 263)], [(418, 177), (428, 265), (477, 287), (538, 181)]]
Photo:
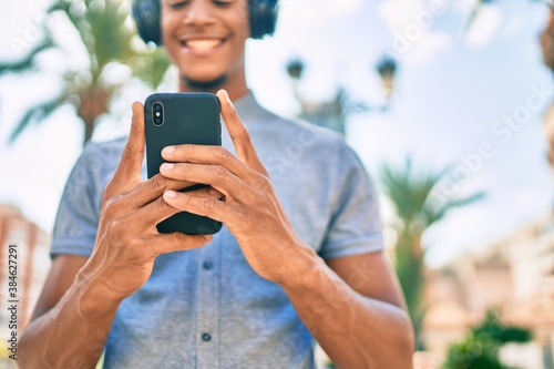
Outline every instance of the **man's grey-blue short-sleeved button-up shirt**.
[[(375, 188), (342, 137), (276, 116), (252, 94), (235, 105), (307, 244), (324, 259), (382, 249)], [(85, 147), (60, 204), (52, 256), (91, 255), (102, 191), (124, 144)], [(235, 152), (225, 127), (223, 145)], [(117, 310), (104, 368), (314, 368), (312, 348), (288, 296), (250, 268), (224, 226), (205, 247), (156, 258)]]

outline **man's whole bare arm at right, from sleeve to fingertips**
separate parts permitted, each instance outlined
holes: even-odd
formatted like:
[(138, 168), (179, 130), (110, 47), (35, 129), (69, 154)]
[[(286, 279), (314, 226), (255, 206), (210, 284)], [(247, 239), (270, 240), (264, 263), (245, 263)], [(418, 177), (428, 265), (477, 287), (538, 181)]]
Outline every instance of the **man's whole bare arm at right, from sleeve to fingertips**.
[(284, 287), (302, 321), (339, 366), (411, 368), (412, 328), (382, 253), (337, 258), (329, 268), (295, 232), (228, 95), (220, 91), (217, 96), (238, 157), (222, 147), (165, 147), (162, 155), (175, 164), (162, 165), (161, 173), (209, 184), (224, 197), (199, 199), (168, 191), (164, 199), (223, 222), (253, 269)]

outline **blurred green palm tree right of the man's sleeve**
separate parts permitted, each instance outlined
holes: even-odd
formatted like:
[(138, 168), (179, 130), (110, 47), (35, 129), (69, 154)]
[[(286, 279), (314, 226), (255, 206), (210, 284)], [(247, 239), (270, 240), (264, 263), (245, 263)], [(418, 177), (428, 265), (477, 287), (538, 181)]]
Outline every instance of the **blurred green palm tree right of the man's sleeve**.
[(469, 205), (483, 197), (483, 193), (478, 193), (463, 198), (447, 199), (440, 206), (434, 205), (432, 191), (447, 172), (444, 170), (439, 173), (417, 174), (411, 160), (408, 158), (404, 167), (396, 170), (384, 166), (380, 175), (382, 191), (393, 204), (398, 217), (393, 225), (398, 234), (393, 250), (394, 267), (404, 291), (419, 348), (423, 345), (420, 334), (423, 320), (421, 295), (425, 254), (421, 236), (452, 208)]

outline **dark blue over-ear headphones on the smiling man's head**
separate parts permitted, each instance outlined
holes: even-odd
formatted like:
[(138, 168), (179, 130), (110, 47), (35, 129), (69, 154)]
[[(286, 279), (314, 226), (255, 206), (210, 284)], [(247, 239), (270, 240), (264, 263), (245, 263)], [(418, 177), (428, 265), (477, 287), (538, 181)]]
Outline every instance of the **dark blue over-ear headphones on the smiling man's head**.
[[(277, 1), (248, 0), (250, 37), (253, 39), (259, 40), (266, 34), (274, 34), (277, 21)], [(157, 45), (163, 43), (160, 0), (133, 0), (133, 18), (144, 42), (154, 42)]]

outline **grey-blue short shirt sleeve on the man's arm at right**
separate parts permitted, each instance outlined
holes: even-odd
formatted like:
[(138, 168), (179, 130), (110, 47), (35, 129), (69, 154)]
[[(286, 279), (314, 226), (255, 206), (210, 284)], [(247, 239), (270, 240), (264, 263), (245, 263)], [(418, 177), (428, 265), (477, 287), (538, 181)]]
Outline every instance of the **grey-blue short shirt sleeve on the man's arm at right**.
[(320, 256), (332, 259), (382, 250), (382, 223), (372, 181), (356, 153), (345, 144), (339, 161), (338, 194)]

